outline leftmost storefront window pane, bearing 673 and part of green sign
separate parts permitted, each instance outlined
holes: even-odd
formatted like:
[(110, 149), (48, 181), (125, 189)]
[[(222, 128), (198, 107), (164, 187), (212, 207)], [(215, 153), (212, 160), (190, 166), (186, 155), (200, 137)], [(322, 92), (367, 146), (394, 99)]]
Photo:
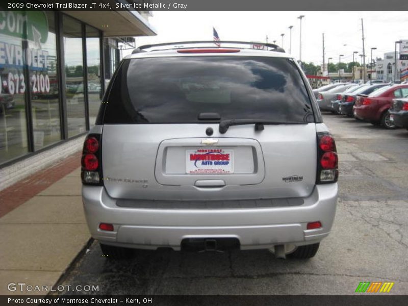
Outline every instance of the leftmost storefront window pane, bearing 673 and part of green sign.
[[(43, 17), (43, 16), (39, 16)], [(34, 56), (40, 48), (27, 49), (23, 23), (25, 12), (0, 12), (0, 163), (28, 152), (24, 49)], [(28, 37), (32, 39), (31, 36)], [(34, 65), (33, 58), (28, 63)]]

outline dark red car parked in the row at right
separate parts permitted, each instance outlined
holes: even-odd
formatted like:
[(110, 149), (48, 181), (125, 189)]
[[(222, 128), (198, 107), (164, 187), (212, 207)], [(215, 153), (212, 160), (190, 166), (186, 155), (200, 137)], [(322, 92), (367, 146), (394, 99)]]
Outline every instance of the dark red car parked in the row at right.
[(374, 125), (380, 124), (386, 129), (395, 129), (390, 120), (388, 110), (392, 99), (408, 97), (408, 84), (385, 87), (372, 92), (368, 96), (357, 96), (353, 107), (354, 117), (369, 121)]

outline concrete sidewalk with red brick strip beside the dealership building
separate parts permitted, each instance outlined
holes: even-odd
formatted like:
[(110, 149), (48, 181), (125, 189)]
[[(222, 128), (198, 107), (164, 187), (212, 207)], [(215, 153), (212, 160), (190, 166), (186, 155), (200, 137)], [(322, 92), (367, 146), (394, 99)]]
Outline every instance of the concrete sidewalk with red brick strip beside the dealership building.
[(54, 286), (90, 239), (81, 198), (80, 153), (0, 191), (0, 295), (9, 283)]

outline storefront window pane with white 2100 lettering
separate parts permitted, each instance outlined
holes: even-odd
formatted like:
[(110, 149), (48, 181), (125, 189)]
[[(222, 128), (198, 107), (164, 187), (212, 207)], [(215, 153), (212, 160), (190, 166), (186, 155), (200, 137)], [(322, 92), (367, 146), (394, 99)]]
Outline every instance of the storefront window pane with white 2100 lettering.
[(37, 50), (29, 53), (32, 54), (29, 75), (35, 150), (61, 140), (55, 13), (42, 14), (45, 14), (48, 28), (38, 27), (43, 31), (41, 36), (29, 41), (29, 49)]

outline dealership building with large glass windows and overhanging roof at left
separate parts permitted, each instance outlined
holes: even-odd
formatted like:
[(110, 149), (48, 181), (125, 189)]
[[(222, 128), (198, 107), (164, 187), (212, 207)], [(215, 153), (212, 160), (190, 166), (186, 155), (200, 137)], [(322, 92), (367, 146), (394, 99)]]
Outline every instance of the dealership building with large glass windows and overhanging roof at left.
[(156, 35), (148, 17), (0, 7), (0, 190), (81, 148), (120, 47)]

